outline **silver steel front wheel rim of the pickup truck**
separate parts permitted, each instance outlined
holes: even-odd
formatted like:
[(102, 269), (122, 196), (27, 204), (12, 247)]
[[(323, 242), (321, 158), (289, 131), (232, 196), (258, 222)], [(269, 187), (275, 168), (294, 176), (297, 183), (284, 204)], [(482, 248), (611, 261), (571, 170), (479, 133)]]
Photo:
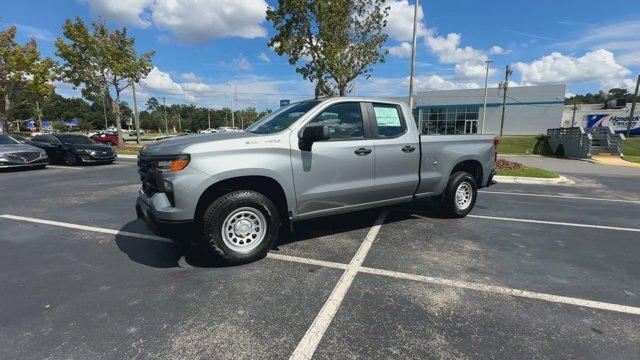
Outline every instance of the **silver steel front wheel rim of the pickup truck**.
[(222, 240), (231, 250), (248, 253), (264, 240), (267, 220), (252, 207), (241, 207), (227, 215), (222, 223)]

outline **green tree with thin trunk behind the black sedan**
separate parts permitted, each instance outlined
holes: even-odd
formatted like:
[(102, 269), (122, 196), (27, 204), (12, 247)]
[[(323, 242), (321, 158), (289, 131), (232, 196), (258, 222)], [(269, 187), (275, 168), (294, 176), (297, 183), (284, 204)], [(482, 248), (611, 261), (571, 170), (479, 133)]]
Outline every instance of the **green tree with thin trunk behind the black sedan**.
[(127, 36), (127, 28), (109, 30), (104, 22), (93, 22), (91, 31), (79, 17), (67, 20), (62, 38), (56, 39), (56, 55), (64, 63), (62, 79), (74, 87), (83, 87), (83, 96), (113, 91), (113, 110), (122, 144), (122, 92), (140, 81), (152, 69), (153, 51), (136, 54), (135, 40)]

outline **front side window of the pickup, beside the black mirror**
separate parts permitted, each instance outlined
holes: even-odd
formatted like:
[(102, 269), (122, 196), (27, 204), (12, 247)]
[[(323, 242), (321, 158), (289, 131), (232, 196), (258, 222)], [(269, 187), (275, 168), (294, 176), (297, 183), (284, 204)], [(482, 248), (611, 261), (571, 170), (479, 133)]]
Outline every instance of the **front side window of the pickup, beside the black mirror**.
[(361, 139), (364, 137), (360, 103), (349, 102), (331, 105), (309, 124), (327, 125), (331, 140)]

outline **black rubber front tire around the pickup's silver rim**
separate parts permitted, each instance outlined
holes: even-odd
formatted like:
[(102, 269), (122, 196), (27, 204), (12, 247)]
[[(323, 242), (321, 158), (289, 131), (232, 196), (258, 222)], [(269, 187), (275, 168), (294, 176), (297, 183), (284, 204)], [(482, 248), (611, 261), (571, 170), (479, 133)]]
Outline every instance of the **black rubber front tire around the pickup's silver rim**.
[[(231, 234), (236, 233), (235, 226), (233, 226), (232, 230), (231, 225), (233, 225), (233, 223), (228, 224), (230, 225), (228, 230), (230, 236), (223, 237), (222, 229), (225, 227), (225, 222), (230, 218), (233, 220), (233, 214), (239, 214), (238, 211), (242, 211), (242, 209), (251, 209), (249, 213), (252, 210), (259, 211), (263, 217), (262, 219), (254, 218), (254, 220), (259, 223), (264, 222), (262, 227), (256, 227), (256, 232), (257, 229), (263, 232), (261, 233), (263, 236), (257, 236), (257, 239), (261, 239), (258, 240), (257, 245), (254, 245), (255, 242), (249, 245), (250, 241), (252, 241), (249, 237), (236, 238), (236, 236), (231, 236)], [(256, 215), (258, 215), (258, 217), (260, 216), (259, 214)], [(241, 218), (238, 220), (236, 226), (240, 225), (240, 221), (245, 221), (245, 219)], [(250, 224), (253, 224), (251, 219), (248, 218), (248, 221)], [(207, 249), (211, 250), (213, 255), (228, 263), (241, 264), (261, 259), (267, 255), (267, 252), (271, 250), (278, 238), (280, 219), (277, 208), (269, 198), (256, 191), (239, 190), (230, 192), (216, 199), (204, 212), (202, 225), (203, 242)], [(252, 232), (254, 230), (253, 226), (254, 225), (251, 225)], [(265, 226), (266, 229), (264, 229)], [(238, 242), (234, 243), (233, 240)], [(243, 240), (246, 241), (246, 245), (242, 242)], [(235, 246), (235, 248), (232, 246)], [(255, 247), (245, 250), (241, 248), (243, 246)]]

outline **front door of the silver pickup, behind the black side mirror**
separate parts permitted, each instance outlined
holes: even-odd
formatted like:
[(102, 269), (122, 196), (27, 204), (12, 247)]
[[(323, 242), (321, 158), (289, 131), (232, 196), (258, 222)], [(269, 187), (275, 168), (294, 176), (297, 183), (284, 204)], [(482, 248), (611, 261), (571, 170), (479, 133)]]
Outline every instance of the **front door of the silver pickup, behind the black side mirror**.
[(341, 102), (324, 109), (306, 125), (327, 125), (331, 139), (313, 143), (311, 151), (300, 150), (297, 134), (292, 134), (299, 215), (339, 212), (372, 201), (375, 154), (363, 110), (359, 102)]

